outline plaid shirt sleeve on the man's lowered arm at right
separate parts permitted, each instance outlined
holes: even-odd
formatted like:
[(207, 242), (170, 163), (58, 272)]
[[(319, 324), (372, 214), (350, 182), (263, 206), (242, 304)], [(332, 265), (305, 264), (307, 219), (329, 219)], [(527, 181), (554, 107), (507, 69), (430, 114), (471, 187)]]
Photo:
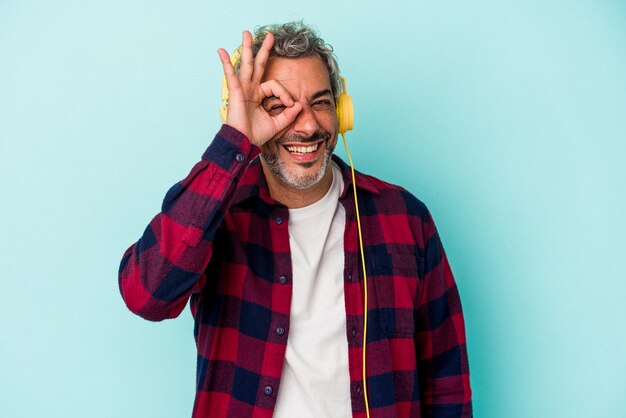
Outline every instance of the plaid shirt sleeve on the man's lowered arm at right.
[(457, 285), (432, 217), (424, 226), (424, 274), (416, 312), (422, 416), (472, 417), (465, 324)]

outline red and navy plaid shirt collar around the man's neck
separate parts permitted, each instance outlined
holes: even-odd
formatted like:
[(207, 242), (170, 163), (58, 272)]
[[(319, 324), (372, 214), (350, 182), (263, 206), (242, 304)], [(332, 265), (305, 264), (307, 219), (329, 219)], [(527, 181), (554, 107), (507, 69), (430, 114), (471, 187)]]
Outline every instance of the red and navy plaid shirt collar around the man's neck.
[[(348, 193), (349, 187), (353, 184), (350, 166), (334, 154), (332, 159), (337, 163), (339, 169), (341, 170), (344, 187), (341, 191), (340, 198), (344, 199)], [(365, 190), (373, 194), (380, 194), (380, 190), (376, 187), (370, 176), (360, 173), (357, 170), (354, 170), (354, 175), (356, 177), (356, 185), (358, 189)], [(235, 190), (233, 205), (238, 205), (253, 197), (258, 197), (269, 205), (276, 204), (274, 199), (270, 196), (270, 191), (267, 187), (267, 180), (265, 179), (265, 174), (263, 173), (263, 167), (261, 166), (259, 156), (256, 156), (250, 164), (248, 164), (246, 171), (243, 173), (243, 177), (239, 181), (237, 189)]]

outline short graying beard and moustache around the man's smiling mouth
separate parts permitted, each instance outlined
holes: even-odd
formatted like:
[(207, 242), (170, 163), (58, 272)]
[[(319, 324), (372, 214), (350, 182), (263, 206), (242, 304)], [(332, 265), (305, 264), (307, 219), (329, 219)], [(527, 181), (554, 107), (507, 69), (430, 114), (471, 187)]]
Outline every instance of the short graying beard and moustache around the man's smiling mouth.
[[(323, 143), (325, 149), (322, 165), (320, 166), (319, 170), (317, 170), (317, 172), (315, 173), (311, 173), (308, 175), (298, 175), (296, 173), (290, 172), (289, 168), (285, 164), (285, 161), (283, 161), (279, 156), (280, 147), (282, 146), (281, 144), (286, 142), (299, 142), (301, 144), (307, 144), (317, 142), (320, 139), (324, 139)], [(261, 158), (267, 165), (267, 168), (269, 168), (270, 171), (274, 173), (274, 175), (276, 175), (276, 177), (278, 177), (278, 179), (284, 184), (299, 190), (310, 189), (311, 187), (319, 183), (324, 178), (324, 174), (326, 174), (326, 169), (328, 168), (330, 157), (332, 156), (333, 150), (335, 149), (336, 145), (333, 144), (332, 148), (329, 147), (330, 139), (330, 134), (324, 131), (316, 131), (308, 138), (299, 135), (284, 136), (278, 138), (275, 141), (273, 149), (270, 149), (270, 147), (262, 147)], [(320, 146), (321, 145), (322, 143), (320, 143)], [(316, 161), (300, 163), (299, 165), (304, 168), (309, 168), (312, 167), (314, 164), (316, 164)]]

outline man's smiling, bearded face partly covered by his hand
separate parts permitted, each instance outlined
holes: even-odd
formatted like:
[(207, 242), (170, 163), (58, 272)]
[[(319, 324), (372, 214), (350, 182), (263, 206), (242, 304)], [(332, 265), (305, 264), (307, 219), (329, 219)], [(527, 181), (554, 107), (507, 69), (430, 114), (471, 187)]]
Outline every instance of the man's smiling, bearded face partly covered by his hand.
[[(296, 120), (261, 147), (270, 175), (283, 185), (310, 189), (320, 183), (337, 142), (337, 114), (328, 70), (317, 56), (272, 57), (263, 80), (276, 80), (302, 104)], [(284, 109), (280, 99), (266, 98), (265, 110), (277, 115)]]

